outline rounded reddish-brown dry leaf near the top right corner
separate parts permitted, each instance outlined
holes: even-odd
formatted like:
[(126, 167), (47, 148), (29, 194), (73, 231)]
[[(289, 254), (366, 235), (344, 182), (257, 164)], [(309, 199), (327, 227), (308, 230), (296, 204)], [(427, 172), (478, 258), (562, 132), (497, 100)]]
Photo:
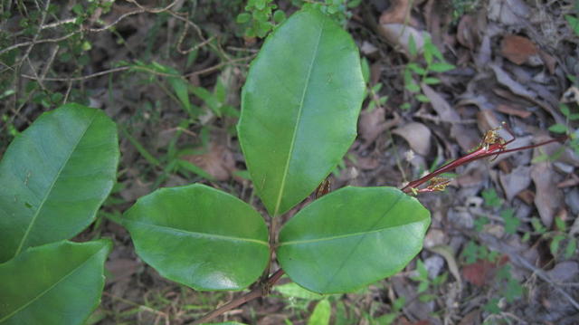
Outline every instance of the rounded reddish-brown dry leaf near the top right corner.
[(507, 34), (500, 42), (500, 54), (510, 62), (521, 65), (528, 63), (531, 65), (541, 64), (539, 49), (536, 44), (527, 37)]

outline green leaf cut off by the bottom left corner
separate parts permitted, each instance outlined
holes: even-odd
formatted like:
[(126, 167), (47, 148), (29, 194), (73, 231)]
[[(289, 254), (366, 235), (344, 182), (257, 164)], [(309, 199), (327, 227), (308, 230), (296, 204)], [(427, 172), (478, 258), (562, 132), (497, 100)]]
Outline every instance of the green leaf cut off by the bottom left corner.
[(109, 240), (33, 247), (0, 264), (0, 324), (83, 324), (100, 303)]

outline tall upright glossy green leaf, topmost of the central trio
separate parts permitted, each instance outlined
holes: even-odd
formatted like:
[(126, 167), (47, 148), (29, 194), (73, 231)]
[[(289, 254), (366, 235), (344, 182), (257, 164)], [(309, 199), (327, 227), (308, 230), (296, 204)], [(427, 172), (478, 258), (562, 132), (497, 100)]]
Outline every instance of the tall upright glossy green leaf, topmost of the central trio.
[(316, 10), (263, 44), (242, 91), (239, 138), (261, 201), (280, 215), (308, 196), (356, 138), (365, 85), (356, 44)]

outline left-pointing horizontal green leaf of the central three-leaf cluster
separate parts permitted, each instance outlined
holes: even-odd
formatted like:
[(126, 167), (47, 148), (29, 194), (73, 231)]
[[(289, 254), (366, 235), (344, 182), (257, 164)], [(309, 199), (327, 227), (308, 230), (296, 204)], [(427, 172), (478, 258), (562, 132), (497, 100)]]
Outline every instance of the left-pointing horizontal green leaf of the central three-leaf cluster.
[(123, 225), (146, 263), (197, 290), (241, 290), (270, 254), (265, 222), (252, 206), (199, 184), (141, 197)]

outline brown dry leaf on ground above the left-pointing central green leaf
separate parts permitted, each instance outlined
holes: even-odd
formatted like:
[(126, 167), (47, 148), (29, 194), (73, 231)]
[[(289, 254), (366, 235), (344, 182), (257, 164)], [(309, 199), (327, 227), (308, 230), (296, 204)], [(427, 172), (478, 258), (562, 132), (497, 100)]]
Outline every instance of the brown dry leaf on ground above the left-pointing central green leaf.
[(202, 168), (215, 180), (223, 181), (235, 171), (233, 153), (223, 145), (212, 145), (208, 152), (199, 155), (187, 155), (182, 159)]

